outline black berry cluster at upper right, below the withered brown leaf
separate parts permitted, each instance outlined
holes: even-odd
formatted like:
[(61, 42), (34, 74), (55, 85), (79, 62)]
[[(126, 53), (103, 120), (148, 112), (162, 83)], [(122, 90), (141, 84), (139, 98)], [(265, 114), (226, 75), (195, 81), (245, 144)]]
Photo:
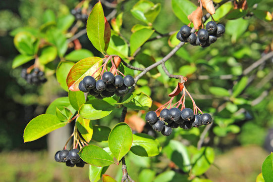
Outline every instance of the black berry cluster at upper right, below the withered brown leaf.
[(206, 29), (200, 29), (197, 33), (191, 33), (191, 28), (187, 25), (181, 27), (176, 37), (180, 41), (190, 42), (192, 45), (200, 45), (202, 48), (208, 47), (217, 40), (217, 37), (225, 33), (225, 26), (210, 21), (206, 24)]

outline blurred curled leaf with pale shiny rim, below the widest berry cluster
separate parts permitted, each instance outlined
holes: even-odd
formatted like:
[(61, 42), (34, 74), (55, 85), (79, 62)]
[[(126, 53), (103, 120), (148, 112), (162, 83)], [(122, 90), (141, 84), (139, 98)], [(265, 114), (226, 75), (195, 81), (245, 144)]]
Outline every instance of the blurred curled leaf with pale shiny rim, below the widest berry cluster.
[(178, 141), (171, 140), (169, 144), (163, 148), (163, 152), (184, 172), (191, 169), (190, 155), (187, 148)]

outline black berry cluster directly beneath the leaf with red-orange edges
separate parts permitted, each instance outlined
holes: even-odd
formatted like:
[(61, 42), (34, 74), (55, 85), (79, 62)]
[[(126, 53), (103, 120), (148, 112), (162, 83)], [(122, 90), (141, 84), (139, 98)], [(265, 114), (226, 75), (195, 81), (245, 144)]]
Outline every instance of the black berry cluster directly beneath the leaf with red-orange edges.
[(102, 79), (95, 80), (92, 76), (85, 76), (79, 83), (79, 89), (94, 96), (97, 99), (112, 97), (116, 94), (118, 97), (124, 96), (129, 86), (135, 84), (135, 79), (131, 75), (124, 78), (120, 75), (114, 76), (113, 73), (106, 71), (102, 74)]

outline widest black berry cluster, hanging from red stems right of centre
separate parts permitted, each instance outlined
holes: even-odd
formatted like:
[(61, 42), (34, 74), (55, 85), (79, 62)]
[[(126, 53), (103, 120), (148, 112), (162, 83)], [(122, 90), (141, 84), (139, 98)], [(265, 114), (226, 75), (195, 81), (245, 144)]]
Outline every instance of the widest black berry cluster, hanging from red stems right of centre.
[(192, 127), (199, 127), (212, 122), (209, 114), (194, 114), (190, 108), (185, 108), (182, 111), (178, 108), (162, 109), (160, 118), (161, 120), (154, 111), (149, 111), (145, 116), (145, 120), (152, 128), (155, 131), (161, 131), (165, 136), (169, 136), (172, 133), (172, 128), (191, 129)]

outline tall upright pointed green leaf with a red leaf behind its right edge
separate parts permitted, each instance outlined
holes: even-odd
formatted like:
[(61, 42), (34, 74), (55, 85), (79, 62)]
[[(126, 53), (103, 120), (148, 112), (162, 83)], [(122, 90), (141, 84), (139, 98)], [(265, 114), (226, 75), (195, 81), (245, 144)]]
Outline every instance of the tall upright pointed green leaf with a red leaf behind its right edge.
[(104, 13), (100, 1), (93, 7), (86, 25), (87, 36), (94, 47), (104, 51)]

